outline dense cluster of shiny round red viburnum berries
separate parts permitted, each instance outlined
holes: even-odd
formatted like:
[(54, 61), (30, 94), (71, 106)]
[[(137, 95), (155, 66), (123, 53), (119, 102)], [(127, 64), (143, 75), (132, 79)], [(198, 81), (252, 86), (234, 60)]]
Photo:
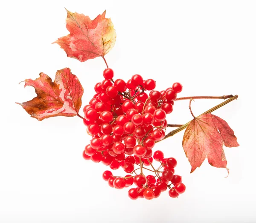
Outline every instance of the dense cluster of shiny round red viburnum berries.
[[(108, 68), (103, 76), (105, 80), (94, 87), (93, 99), (84, 106), (84, 124), (92, 136), (90, 144), (85, 146), (84, 159), (102, 162), (113, 170), (121, 166), (128, 173), (125, 177), (105, 171), (103, 179), (116, 189), (135, 184), (137, 188), (128, 192), (133, 200), (138, 197), (151, 200), (167, 188), (170, 197), (178, 197), (185, 191), (185, 185), (179, 175), (174, 175), (177, 161), (172, 157), (164, 159), (161, 151), (153, 154), (152, 149), (155, 142), (165, 137), (166, 114), (172, 112), (182, 85), (174, 83), (172, 88), (156, 91), (156, 82), (143, 80), (139, 74), (127, 82), (113, 81), (113, 70)], [(157, 169), (152, 165), (153, 158), (160, 162)], [(151, 166), (152, 170), (145, 166)], [(145, 176), (145, 169), (154, 175)]]

